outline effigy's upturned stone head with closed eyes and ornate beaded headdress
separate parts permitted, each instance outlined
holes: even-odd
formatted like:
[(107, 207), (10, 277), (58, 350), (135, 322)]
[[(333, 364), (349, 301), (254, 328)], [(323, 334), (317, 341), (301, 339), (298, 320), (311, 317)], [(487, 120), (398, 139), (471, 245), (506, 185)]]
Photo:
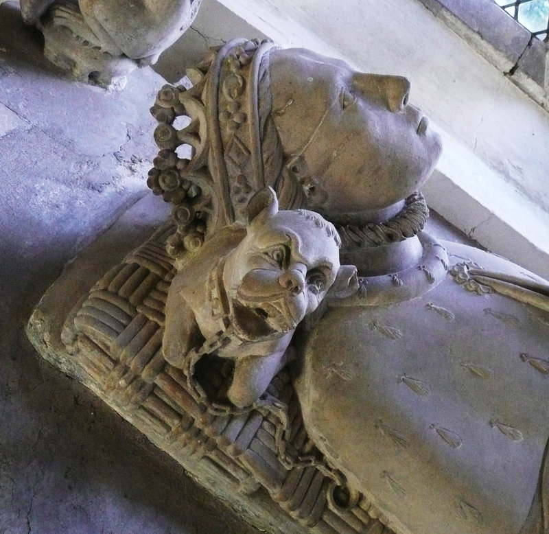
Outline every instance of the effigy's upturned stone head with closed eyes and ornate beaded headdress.
[[(191, 89), (165, 86), (152, 108), (162, 150), (148, 183), (174, 204), (176, 256), (211, 229), (244, 222), (248, 201), (266, 186), (283, 209), (314, 209), (334, 224), (379, 222), (441, 153), (400, 76), (244, 39), (212, 49), (188, 73)], [(190, 121), (174, 127), (182, 115)], [(179, 156), (185, 144), (189, 159)]]

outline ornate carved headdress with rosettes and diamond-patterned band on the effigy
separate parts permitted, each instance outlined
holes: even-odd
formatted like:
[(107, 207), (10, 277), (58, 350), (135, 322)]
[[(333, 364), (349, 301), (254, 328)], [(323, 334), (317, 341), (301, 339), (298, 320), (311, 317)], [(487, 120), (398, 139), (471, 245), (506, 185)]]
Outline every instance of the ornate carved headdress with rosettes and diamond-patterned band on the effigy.
[(161, 150), (148, 185), (174, 205), (172, 255), (192, 251), (214, 229), (243, 220), (249, 198), (266, 185), (277, 189), (281, 205), (299, 203), (288, 205), (295, 193), (282, 191), (279, 180), (283, 154), (270, 120), (268, 80), (273, 47), (232, 40), (187, 70), (190, 89), (165, 85), (159, 91), (151, 113), (160, 123), (154, 139)]

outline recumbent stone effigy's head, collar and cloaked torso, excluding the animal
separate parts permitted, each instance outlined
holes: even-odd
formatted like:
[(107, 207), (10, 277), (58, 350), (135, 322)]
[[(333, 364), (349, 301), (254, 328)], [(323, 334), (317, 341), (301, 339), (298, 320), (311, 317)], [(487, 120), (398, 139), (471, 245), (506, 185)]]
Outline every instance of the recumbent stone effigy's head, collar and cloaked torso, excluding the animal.
[[(225, 45), (210, 61), (191, 73), (192, 89), (165, 86), (152, 110), (160, 123), (155, 137), (161, 152), (149, 185), (176, 208), (177, 231), (169, 250), (178, 276), (187, 275), (192, 286), (193, 271), (185, 271), (185, 262), (191, 265), (187, 258), (196, 251), (186, 245), (186, 237), (204, 235), (207, 246), (209, 235), (215, 240), (216, 231), (242, 219), (245, 199), (262, 185), (275, 187), (286, 205), (314, 207), (336, 222), (342, 257), (358, 267), (359, 289), (331, 303), (325, 316), (299, 336), (294, 385), (309, 437), (327, 463), (345, 475), (349, 495), (375, 503), (390, 529), (472, 534), (482, 524), (498, 534), (522, 526), (530, 532), (531, 524), (541, 520), (533, 502), (547, 498), (537, 480), (544, 476), (549, 428), (543, 413), (530, 416), (527, 399), (531, 388), (541, 387), (546, 369), (531, 354), (546, 345), (549, 284), (505, 260), (419, 233), (426, 211), (412, 191), (430, 174), (440, 144), (421, 112), (408, 104), (406, 79), (356, 73), (303, 49), (280, 51), (244, 40)], [(191, 122), (179, 128), (174, 117), (185, 113)], [(195, 152), (189, 161), (180, 161), (174, 154), (185, 141)], [(187, 195), (198, 184), (201, 192)], [(181, 220), (178, 210), (188, 213), (191, 205), (213, 208), (202, 217)], [(473, 304), (471, 294), (481, 299)], [(174, 314), (167, 312), (173, 321)], [(463, 323), (454, 332), (437, 326), (439, 317), (448, 322), (459, 317)], [(478, 331), (495, 330), (492, 317), (505, 334), (498, 331), (498, 341), (488, 345)], [(517, 325), (524, 328), (521, 335), (513, 330)], [(503, 336), (510, 352), (500, 364)], [(193, 336), (183, 339), (196, 343)], [(519, 345), (529, 348), (522, 353)], [(208, 340), (204, 346), (222, 356)], [(441, 353), (449, 362), (440, 360)], [(178, 356), (176, 365), (189, 380), (194, 369), (185, 360), (193, 358), (193, 349)], [(380, 358), (377, 366), (370, 362), (374, 356)], [(534, 378), (520, 364), (530, 361), (539, 372)], [(457, 373), (445, 367), (456, 363)], [(399, 371), (406, 366), (412, 374)], [(503, 378), (489, 384), (491, 396), (485, 399), (480, 389), (461, 380), (463, 369), (486, 379), (493, 373), (513, 375), (517, 391), (507, 397)], [(374, 376), (374, 386), (364, 388)], [(334, 377), (349, 382), (348, 387), (337, 381), (331, 387)], [(198, 380), (209, 380), (207, 371)], [(404, 384), (428, 397), (432, 383), (441, 384), (450, 400), (435, 401), (430, 411), (417, 409), (417, 399), (395, 386)], [(376, 393), (376, 387), (382, 391)], [(440, 419), (456, 421), (457, 430)], [(376, 446), (378, 427), (410, 447), (408, 461), (384, 458), (386, 448)], [(510, 442), (524, 440), (524, 448), (498, 441), (499, 434), (494, 439), (489, 428)], [(461, 456), (437, 449), (423, 435), (428, 430), (450, 449), (460, 449)], [(490, 454), (484, 454), (487, 450)], [(513, 458), (520, 466), (513, 476), (500, 458)], [(413, 488), (407, 498), (406, 484)]]

